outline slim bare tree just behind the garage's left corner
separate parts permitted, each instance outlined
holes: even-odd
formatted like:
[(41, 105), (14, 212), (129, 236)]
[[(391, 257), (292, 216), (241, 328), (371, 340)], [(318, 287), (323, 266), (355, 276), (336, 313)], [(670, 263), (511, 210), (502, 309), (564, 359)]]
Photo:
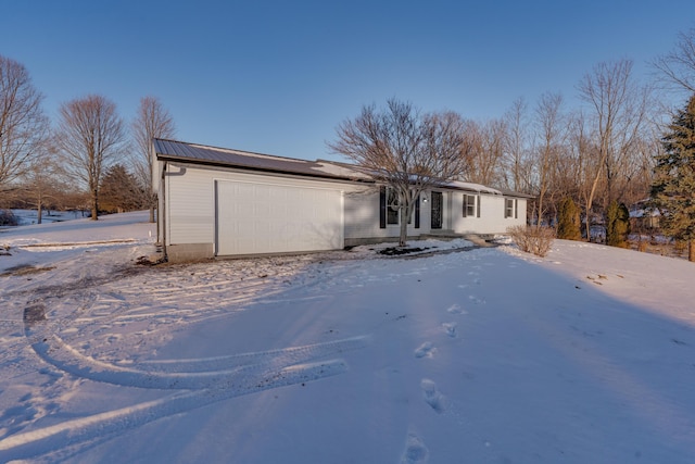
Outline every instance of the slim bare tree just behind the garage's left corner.
[(143, 184), (144, 200), (150, 208), (150, 222), (153, 223), (156, 195), (152, 192), (153, 160), (150, 147), (153, 138), (174, 138), (176, 134), (174, 118), (156, 97), (143, 97), (140, 99), (140, 108), (132, 122), (132, 133), (138, 154), (132, 163), (135, 174)]

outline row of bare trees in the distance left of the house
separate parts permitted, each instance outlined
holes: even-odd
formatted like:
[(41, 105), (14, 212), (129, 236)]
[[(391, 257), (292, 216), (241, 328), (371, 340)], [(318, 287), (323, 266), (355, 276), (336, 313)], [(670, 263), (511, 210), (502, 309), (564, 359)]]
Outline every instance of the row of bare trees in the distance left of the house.
[(0, 55), (0, 209), (88, 211), (150, 209), (154, 222), (154, 137), (173, 138), (174, 120), (144, 97), (130, 124), (100, 95), (62, 103), (51, 124), (26, 67)]

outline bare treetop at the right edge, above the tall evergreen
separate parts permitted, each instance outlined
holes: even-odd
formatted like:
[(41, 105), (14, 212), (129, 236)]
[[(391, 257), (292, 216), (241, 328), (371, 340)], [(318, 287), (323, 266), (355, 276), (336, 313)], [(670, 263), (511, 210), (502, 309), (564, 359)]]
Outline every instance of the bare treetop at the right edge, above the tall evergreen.
[(666, 85), (695, 93), (695, 28), (680, 33), (675, 48), (652, 64)]

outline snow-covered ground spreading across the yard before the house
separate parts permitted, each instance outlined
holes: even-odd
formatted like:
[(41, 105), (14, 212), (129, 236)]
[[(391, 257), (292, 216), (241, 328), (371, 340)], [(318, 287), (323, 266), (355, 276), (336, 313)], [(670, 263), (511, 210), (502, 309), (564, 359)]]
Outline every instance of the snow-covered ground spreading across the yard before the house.
[(693, 263), (558, 240), (142, 266), (146, 221), (0, 233), (0, 462), (695, 462)]

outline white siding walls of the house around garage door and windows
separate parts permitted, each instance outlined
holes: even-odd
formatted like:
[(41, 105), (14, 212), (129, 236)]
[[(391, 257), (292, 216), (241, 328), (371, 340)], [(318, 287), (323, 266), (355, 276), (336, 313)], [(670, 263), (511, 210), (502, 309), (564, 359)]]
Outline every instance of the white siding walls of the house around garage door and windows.
[[(163, 164), (163, 163), (160, 163)], [(271, 174), (251, 174), (224, 168), (169, 162), (166, 191), (160, 191), (160, 211), (165, 211), (160, 225), (165, 228), (166, 246), (172, 250), (188, 250), (188, 258), (211, 258), (215, 253), (216, 199), (218, 180), (278, 184), (295, 187), (339, 190), (343, 203), (343, 239), (346, 244), (363, 241), (397, 239), (400, 225), (380, 228), (379, 188), (348, 181), (296, 178)], [(442, 191), (444, 216), (442, 229), (455, 234), (504, 234), (509, 226), (526, 224), (527, 200), (517, 199), (517, 217), (505, 218), (503, 196), (481, 195), (480, 217), (463, 217), (463, 192)], [(431, 198), (427, 192), (428, 200)], [(430, 234), (431, 201), (420, 201), (419, 228), (415, 228), (415, 212), (408, 225), (408, 236)], [(164, 229), (160, 231), (164, 233)]]

